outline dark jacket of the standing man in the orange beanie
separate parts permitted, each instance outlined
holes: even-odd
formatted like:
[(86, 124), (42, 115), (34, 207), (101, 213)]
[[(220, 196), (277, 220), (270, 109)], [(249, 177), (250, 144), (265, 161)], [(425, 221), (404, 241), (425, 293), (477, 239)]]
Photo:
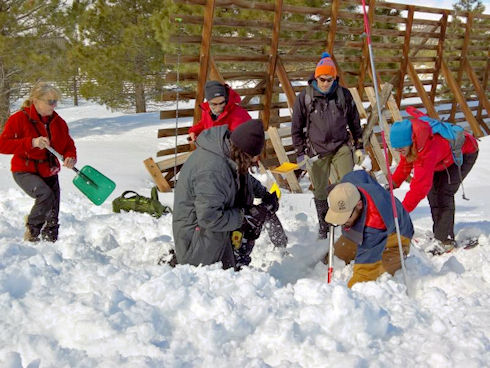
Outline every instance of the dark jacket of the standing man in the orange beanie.
[[(311, 85), (314, 79), (308, 81), (308, 87), (313, 90), (312, 102), (305, 104), (307, 89), (296, 97), (293, 109), (291, 135), (293, 145), (298, 154), (314, 156), (335, 153), (349, 141), (349, 127), (354, 142), (362, 137), (362, 129), (354, 99), (347, 88), (338, 85), (328, 94), (322, 94)], [(343, 93), (344, 101), (339, 101), (337, 95)], [(310, 122), (308, 123), (308, 108)], [(306, 132), (308, 130), (308, 132)]]

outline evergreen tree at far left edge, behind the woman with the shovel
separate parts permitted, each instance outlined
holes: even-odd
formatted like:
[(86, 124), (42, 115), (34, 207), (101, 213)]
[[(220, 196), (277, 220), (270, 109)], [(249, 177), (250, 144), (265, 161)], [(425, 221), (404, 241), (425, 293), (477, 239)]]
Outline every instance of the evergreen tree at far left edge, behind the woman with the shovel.
[(0, 1), (0, 129), (10, 104), (25, 95), (30, 84), (50, 79), (60, 38), (55, 19), (58, 0)]

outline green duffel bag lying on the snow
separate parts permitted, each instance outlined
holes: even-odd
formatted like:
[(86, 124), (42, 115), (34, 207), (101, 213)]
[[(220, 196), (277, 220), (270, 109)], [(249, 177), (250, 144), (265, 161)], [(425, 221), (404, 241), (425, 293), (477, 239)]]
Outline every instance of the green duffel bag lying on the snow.
[(143, 197), (132, 190), (125, 191), (120, 197), (112, 201), (112, 210), (117, 213), (121, 210), (149, 213), (156, 218), (172, 212), (170, 207), (164, 206), (158, 200), (157, 187), (151, 189), (151, 198)]

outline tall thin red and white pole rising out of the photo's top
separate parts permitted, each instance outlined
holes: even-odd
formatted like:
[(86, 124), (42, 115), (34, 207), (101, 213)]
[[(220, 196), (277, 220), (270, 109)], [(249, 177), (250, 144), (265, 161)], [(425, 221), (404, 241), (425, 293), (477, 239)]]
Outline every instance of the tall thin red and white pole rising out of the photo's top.
[(405, 269), (405, 260), (403, 257), (403, 248), (402, 248), (402, 240), (401, 240), (401, 235), (400, 235), (400, 224), (398, 222), (398, 214), (396, 211), (396, 202), (395, 202), (395, 195), (393, 194), (393, 178), (391, 176), (391, 170), (390, 170), (390, 165), (388, 164), (388, 149), (387, 149), (387, 144), (386, 144), (386, 138), (385, 138), (385, 129), (383, 126), (383, 120), (381, 119), (381, 104), (380, 104), (380, 98), (379, 98), (379, 91), (378, 91), (378, 81), (376, 77), (376, 68), (374, 65), (374, 53), (373, 53), (373, 48), (371, 46), (371, 31), (369, 29), (369, 19), (367, 16), (366, 12), (366, 1), (362, 0), (362, 10), (364, 13), (364, 31), (366, 33), (366, 40), (368, 44), (368, 50), (369, 50), (369, 59), (371, 61), (371, 71), (373, 74), (373, 84), (374, 84), (374, 92), (376, 95), (376, 105), (378, 108), (378, 123), (379, 125), (383, 128), (381, 129), (381, 138), (383, 140), (383, 153), (385, 156), (385, 161), (386, 161), (386, 172), (388, 174), (388, 183), (390, 186), (390, 196), (391, 196), (391, 206), (393, 208), (393, 218), (395, 220), (395, 229), (396, 229), (396, 237), (398, 240), (398, 250), (400, 252), (400, 263), (402, 265), (402, 271), (403, 271), (403, 278), (405, 281), (405, 285), (407, 286), (407, 292), (408, 292), (408, 283), (407, 283), (407, 271)]

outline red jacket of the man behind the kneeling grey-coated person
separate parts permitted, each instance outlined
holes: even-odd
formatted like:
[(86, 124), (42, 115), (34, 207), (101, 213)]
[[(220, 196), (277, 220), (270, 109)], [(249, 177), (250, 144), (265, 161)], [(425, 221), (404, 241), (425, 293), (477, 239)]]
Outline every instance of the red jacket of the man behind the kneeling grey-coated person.
[(241, 101), (238, 93), (233, 91), (228, 85), (225, 86), (228, 90), (228, 103), (223, 112), (218, 116), (218, 119), (211, 119), (211, 108), (208, 102), (203, 102), (200, 106), (202, 109), (202, 117), (199, 122), (189, 128), (189, 133), (195, 133), (198, 136), (204, 129), (209, 129), (218, 125), (228, 125), (228, 129), (233, 130), (240, 124), (251, 119), (247, 110), (238, 104)]

